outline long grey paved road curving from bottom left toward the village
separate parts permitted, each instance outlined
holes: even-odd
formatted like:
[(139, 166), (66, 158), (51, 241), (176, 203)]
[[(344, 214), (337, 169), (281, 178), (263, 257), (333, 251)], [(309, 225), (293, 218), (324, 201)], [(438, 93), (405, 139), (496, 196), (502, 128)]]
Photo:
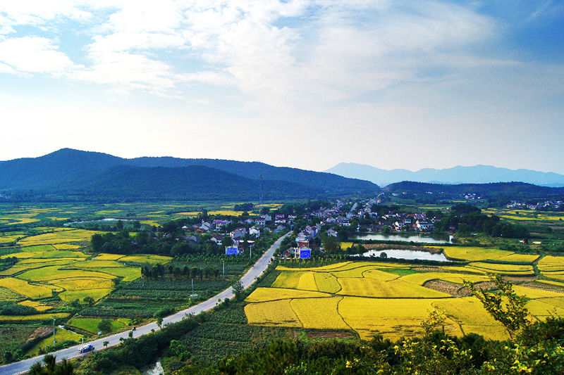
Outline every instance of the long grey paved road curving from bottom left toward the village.
[[(253, 265), (247, 271), (247, 273), (243, 275), (243, 277), (241, 278), (241, 283), (243, 284), (243, 288), (246, 289), (249, 286), (251, 286), (251, 284), (255, 282), (255, 279), (260, 275), (262, 275), (262, 273), (266, 270), (266, 267), (269, 266), (272, 256), (274, 255), (274, 251), (276, 251), (276, 249), (280, 247), (280, 243), (282, 242), (282, 240), (289, 234), (290, 233), (284, 234), (279, 239), (277, 239), (276, 242), (274, 242), (272, 246), (268, 250), (266, 250), (266, 253), (264, 253), (264, 255), (262, 255), (262, 257), (259, 258), (259, 260), (257, 260), (255, 265)], [(182, 320), (186, 314), (197, 315), (200, 314), (200, 312), (212, 310), (212, 308), (214, 308), (215, 305), (218, 303), (218, 300), (233, 298), (233, 296), (234, 296), (233, 289), (229, 287), (225, 291), (222, 291), (221, 293), (214, 295), (212, 298), (209, 298), (209, 300), (205, 300), (204, 302), (199, 303), (198, 305), (189, 307), (186, 310), (182, 310), (180, 312), (177, 312), (176, 314), (164, 318), (163, 324), (180, 322), (180, 320)], [(149, 323), (145, 326), (137, 327), (137, 329), (133, 331), (133, 337), (143, 336), (146, 335), (147, 333), (151, 333), (151, 330), (157, 331), (158, 329), (159, 326), (157, 326), (156, 322)], [(97, 340), (89, 341), (88, 343), (94, 345), (94, 350), (102, 350), (104, 349), (104, 341), (109, 342), (108, 347), (118, 345), (121, 342), (120, 338), (123, 339), (129, 338), (130, 332), (132, 331), (116, 333), (115, 335), (106, 336), (104, 338), (98, 338)], [(76, 345), (71, 348), (57, 350), (56, 352), (51, 352), (49, 354), (55, 355), (57, 357), (57, 362), (59, 362), (63, 358), (80, 357), (78, 348), (80, 348), (81, 346), (82, 345)], [(23, 360), (20, 362), (6, 364), (5, 366), (0, 367), (0, 374), (2, 375), (21, 374), (25, 371), (29, 371), (30, 367), (32, 367), (32, 364), (34, 364), (35, 362), (41, 362), (42, 360), (43, 360), (43, 355), (38, 355), (37, 357), (30, 358), (29, 360)]]

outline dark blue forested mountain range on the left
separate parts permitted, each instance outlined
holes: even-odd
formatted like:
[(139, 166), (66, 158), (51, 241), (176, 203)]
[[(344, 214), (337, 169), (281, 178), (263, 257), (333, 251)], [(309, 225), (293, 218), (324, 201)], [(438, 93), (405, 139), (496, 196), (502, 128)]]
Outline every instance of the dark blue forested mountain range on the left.
[[(261, 188), (262, 186), (262, 188)], [(336, 174), (220, 159), (118, 158), (63, 148), (0, 162), (0, 190), (27, 198), (188, 201), (324, 198), (374, 193), (379, 186)]]

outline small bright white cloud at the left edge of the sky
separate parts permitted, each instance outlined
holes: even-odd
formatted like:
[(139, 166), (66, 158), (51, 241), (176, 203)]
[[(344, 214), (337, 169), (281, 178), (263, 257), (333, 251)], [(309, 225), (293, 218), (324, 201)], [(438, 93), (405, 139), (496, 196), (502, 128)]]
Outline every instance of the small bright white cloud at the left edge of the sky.
[(13, 71), (25, 73), (60, 73), (73, 65), (50, 39), (22, 37), (0, 42), (0, 62)]

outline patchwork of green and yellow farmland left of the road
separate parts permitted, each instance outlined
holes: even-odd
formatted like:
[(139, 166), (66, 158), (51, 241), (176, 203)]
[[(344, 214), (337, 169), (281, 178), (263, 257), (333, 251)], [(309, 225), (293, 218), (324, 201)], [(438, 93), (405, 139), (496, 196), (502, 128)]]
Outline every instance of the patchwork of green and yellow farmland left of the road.
[[(130, 231), (145, 230), (185, 217), (180, 212), (197, 215), (198, 210), (207, 208), (231, 214), (234, 204), (0, 205), (0, 303), (10, 308), (20, 306), (25, 312), (0, 313), (0, 339), (8, 341), (1, 345), (0, 357), (5, 350), (17, 352), (16, 357), (37, 352), (39, 346), (23, 352), (18, 348), (32, 332), (51, 326), (53, 317), (56, 324), (66, 323), (88, 337), (97, 333), (102, 317), (111, 319), (111, 330), (116, 331), (132, 319), (153, 319), (157, 313), (179, 310), (227, 288), (232, 281), (197, 279), (193, 284), (197, 297), (192, 298), (192, 284), (185, 279), (136, 282), (143, 265), (166, 265), (172, 258), (143, 253), (93, 254), (90, 239), (93, 234), (116, 231), (118, 220)], [(140, 222), (136, 229), (134, 222)], [(246, 263), (226, 265), (226, 278), (240, 274)], [(180, 267), (183, 265), (185, 262)], [(205, 260), (191, 264), (202, 269), (208, 266)], [(216, 261), (214, 268), (219, 267), (221, 262)], [(12, 310), (20, 311), (16, 307)], [(62, 331), (61, 338), (66, 332)], [(4, 333), (9, 337), (2, 336)]]

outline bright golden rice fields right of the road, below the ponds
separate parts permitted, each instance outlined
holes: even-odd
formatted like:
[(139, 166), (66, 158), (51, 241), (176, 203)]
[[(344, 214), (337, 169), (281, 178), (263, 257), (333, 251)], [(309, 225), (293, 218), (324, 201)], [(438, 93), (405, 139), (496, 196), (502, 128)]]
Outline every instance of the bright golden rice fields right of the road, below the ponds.
[[(513, 253), (503, 250), (494, 249), (488, 253), (487, 249), (477, 249), (478, 255), (465, 256), (476, 260), (497, 258), (498, 261), (509, 257), (511, 262), (532, 262), (537, 257), (512, 257)], [(462, 250), (455, 251), (458, 251), (457, 255), (462, 254)], [(560, 267), (560, 259), (550, 257), (544, 264)], [(393, 273), (396, 267), (412, 268), (412, 271)], [(491, 318), (477, 298), (459, 297), (453, 290), (462, 290), (465, 281), (489, 281), (486, 274), (533, 274), (532, 265), (477, 261), (466, 266), (429, 267), (428, 270), (392, 262), (341, 262), (324, 267), (279, 266), (277, 269), (281, 273), (270, 288), (257, 288), (245, 300), (245, 314), (250, 324), (349, 329), (363, 339), (369, 339), (375, 333), (391, 339), (417, 336), (422, 333), (421, 322), (436, 308), (446, 313), (445, 330), (448, 333), (462, 336), (475, 332), (486, 338), (507, 338), (503, 326)], [(418, 272), (414, 272), (415, 269)], [(460, 288), (428, 288), (429, 281), (435, 281), (431, 283), (434, 288), (440, 286), (441, 281)], [(552, 284), (547, 285), (558, 284), (548, 282)], [(555, 312), (564, 315), (564, 288), (560, 293), (554, 287), (553, 290), (541, 290), (517, 284), (515, 292), (528, 299), (527, 307), (535, 319), (544, 319)]]

